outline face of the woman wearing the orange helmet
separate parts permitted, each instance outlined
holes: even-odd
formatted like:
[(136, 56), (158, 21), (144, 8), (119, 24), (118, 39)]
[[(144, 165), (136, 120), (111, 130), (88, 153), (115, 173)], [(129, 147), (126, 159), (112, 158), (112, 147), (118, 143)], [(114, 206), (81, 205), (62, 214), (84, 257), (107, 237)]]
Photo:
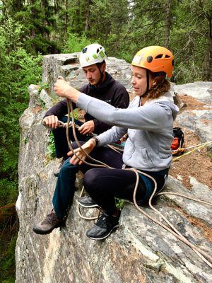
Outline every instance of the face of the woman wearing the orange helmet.
[[(146, 69), (141, 67), (132, 66), (132, 80), (131, 84), (134, 88), (136, 96), (142, 96), (146, 92)], [(149, 81), (149, 87), (151, 87), (152, 80)]]

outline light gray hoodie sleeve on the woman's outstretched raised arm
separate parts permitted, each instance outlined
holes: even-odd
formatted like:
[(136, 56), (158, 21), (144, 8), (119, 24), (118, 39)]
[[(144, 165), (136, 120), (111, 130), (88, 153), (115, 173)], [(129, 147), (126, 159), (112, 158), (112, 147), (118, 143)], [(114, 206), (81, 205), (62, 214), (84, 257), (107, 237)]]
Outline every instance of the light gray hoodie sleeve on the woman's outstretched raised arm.
[(167, 120), (173, 120), (172, 104), (151, 103), (143, 107), (120, 109), (104, 101), (90, 98), (84, 93), (81, 93), (77, 101), (77, 105), (84, 108), (90, 115), (110, 125), (153, 132), (160, 132), (165, 129)]

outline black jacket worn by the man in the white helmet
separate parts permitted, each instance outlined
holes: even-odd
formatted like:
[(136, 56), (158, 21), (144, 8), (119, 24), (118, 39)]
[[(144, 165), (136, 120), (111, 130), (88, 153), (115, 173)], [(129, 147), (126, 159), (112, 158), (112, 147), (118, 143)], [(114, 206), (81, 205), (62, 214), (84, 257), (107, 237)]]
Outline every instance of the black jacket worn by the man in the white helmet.
[[(126, 91), (126, 88), (115, 81), (110, 74), (106, 72), (106, 79), (100, 86), (91, 86), (90, 83), (86, 84), (82, 88), (79, 89), (82, 93), (88, 94), (88, 96), (92, 96), (94, 98), (98, 98), (103, 100), (115, 108), (127, 108), (129, 105), (129, 94)], [(73, 103), (73, 109), (76, 108), (76, 104)], [(60, 120), (61, 117), (68, 113), (66, 99), (59, 101), (56, 105), (50, 108), (45, 117), (50, 115), (55, 115)], [(86, 121), (93, 120), (95, 124), (95, 133), (100, 134), (105, 132), (107, 129), (110, 129), (112, 125), (108, 125), (104, 122), (100, 122), (96, 120), (93, 116), (86, 113), (84, 115)]]

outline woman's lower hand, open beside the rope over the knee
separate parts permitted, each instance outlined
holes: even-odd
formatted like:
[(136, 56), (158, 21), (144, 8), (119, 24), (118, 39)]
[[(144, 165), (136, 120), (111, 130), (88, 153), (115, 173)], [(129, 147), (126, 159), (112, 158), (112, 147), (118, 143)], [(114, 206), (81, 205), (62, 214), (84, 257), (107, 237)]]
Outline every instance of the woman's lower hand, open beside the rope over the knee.
[[(85, 144), (83, 144), (81, 146), (81, 148), (86, 151), (86, 154), (90, 154), (91, 151), (93, 151), (93, 149), (95, 148), (95, 139), (89, 139), (88, 141), (86, 141)], [(70, 159), (70, 163), (73, 165), (76, 165), (78, 163), (78, 165), (83, 164), (83, 161), (81, 161), (77, 156), (79, 156), (81, 159), (85, 160), (86, 159), (86, 154), (81, 151), (81, 149), (78, 147), (77, 149), (73, 150), (75, 152), (76, 155), (73, 155)], [(69, 151), (68, 156), (72, 155), (72, 151)]]

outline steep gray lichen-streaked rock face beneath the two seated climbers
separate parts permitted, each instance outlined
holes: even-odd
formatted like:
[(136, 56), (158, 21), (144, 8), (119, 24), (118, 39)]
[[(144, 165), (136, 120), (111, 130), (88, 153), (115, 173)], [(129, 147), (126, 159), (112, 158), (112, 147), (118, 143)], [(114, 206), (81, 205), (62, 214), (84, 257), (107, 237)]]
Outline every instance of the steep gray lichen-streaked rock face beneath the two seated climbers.
[[(44, 81), (50, 75), (55, 79), (62, 74), (59, 59), (55, 56), (61, 56), (61, 62), (75, 58), (75, 54), (45, 57)], [(112, 59), (111, 73), (116, 68), (117, 75), (126, 72), (124, 84), (128, 86), (128, 69), (124, 67), (127, 64), (122, 62), (120, 67), (119, 60), (116, 60)], [(73, 62), (73, 68), (75, 64)], [(50, 65), (57, 68), (50, 72)], [(52, 85), (53, 81), (49, 83)], [(65, 228), (54, 229), (47, 236), (33, 233), (34, 223), (44, 219), (52, 208), (57, 180), (52, 171), (57, 161), (47, 158), (47, 129), (42, 125), (46, 110), (42, 110), (39, 103), (42, 99), (49, 107), (52, 98), (47, 94), (45, 97), (43, 92), (38, 93), (35, 86), (30, 86), (29, 91), (29, 108), (20, 118), (19, 195), (16, 203), (20, 231), (16, 245), (16, 283), (211, 282), (210, 267), (191, 248), (141, 214), (133, 204), (125, 204), (121, 225), (115, 233), (105, 241), (92, 241), (86, 237), (86, 231), (93, 221), (78, 216), (76, 197), (79, 191), (76, 191)], [(194, 178), (191, 182), (193, 189), (189, 191), (179, 180), (170, 177), (165, 190), (206, 201), (211, 199), (208, 187)], [(155, 207), (189, 241), (206, 253), (212, 250), (208, 236), (211, 225), (211, 208), (208, 205), (166, 195), (157, 198)], [(149, 207), (143, 207), (143, 210), (163, 221)], [(88, 212), (87, 209), (84, 213), (90, 215), (93, 210)]]

